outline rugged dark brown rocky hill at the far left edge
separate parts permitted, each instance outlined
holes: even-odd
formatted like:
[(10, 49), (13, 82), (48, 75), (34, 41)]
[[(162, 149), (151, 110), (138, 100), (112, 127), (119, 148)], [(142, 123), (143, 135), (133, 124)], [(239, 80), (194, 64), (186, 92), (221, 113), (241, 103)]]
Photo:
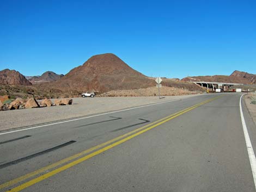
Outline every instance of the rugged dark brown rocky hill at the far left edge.
[(5, 69), (0, 71), (0, 84), (2, 85), (31, 85), (25, 76), (15, 70)]

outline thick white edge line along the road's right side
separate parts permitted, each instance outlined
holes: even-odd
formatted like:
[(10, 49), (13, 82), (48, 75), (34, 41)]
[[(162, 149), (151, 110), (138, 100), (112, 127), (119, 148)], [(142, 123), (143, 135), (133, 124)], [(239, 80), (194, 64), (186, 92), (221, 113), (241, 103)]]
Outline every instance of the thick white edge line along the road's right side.
[[(243, 94), (243, 95), (245, 95), (245, 94)], [(245, 135), (245, 142), (246, 142), (247, 152), (248, 152), (248, 156), (249, 156), (249, 160), (250, 160), (250, 164), (251, 164), (251, 168), (252, 168), (254, 186), (255, 186), (255, 189), (256, 189), (256, 158), (255, 158), (255, 155), (254, 155), (252, 143), (251, 143), (251, 140), (250, 140), (250, 137), (249, 137), (249, 134), (248, 134), (247, 127), (246, 127), (245, 117), (243, 117), (243, 111), (242, 111), (242, 97), (243, 97), (243, 95), (241, 95), (241, 97), (240, 97), (240, 114), (241, 114), (241, 120), (242, 120), (243, 134)]]

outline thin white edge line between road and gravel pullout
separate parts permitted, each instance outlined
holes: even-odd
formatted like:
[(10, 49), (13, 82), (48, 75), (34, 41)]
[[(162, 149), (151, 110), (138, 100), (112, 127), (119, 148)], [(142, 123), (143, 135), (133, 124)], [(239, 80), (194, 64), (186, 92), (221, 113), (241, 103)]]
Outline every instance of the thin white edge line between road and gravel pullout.
[(47, 125), (41, 125), (41, 126), (36, 126), (36, 127), (29, 127), (29, 128), (25, 128), (25, 129), (18, 129), (18, 130), (15, 130), (15, 131), (9, 131), (9, 132), (0, 133), (0, 135), (20, 132), (20, 131), (26, 131), (26, 130), (29, 130), (29, 129), (35, 129), (35, 128), (46, 127), (46, 126), (51, 126), (51, 125), (57, 125), (57, 124), (60, 124), (60, 123), (66, 123), (66, 122), (71, 122), (71, 121), (78, 121), (78, 120), (82, 120), (82, 119), (88, 119), (88, 118), (95, 117), (95, 116), (107, 115), (107, 114), (118, 113), (118, 112), (125, 112), (126, 110), (138, 109), (138, 108), (143, 108), (143, 107), (148, 107), (148, 106), (155, 106), (156, 104), (169, 103), (169, 102), (174, 102), (174, 101), (178, 101), (178, 100), (184, 100), (186, 98), (190, 98), (190, 97), (179, 98), (177, 100), (164, 101), (164, 102), (160, 102), (160, 103), (153, 103), (153, 104), (148, 104), (148, 105), (139, 106), (139, 107), (133, 107), (133, 108), (129, 108), (129, 109), (122, 109), (122, 110), (117, 110), (117, 111), (114, 111), (114, 112), (102, 113), (102, 114), (97, 114), (97, 115), (92, 115), (92, 116), (87, 116), (87, 117), (81, 117), (81, 118), (78, 118), (78, 119), (71, 119), (71, 120), (67, 120), (67, 121), (50, 123), (50, 124), (47, 124)]

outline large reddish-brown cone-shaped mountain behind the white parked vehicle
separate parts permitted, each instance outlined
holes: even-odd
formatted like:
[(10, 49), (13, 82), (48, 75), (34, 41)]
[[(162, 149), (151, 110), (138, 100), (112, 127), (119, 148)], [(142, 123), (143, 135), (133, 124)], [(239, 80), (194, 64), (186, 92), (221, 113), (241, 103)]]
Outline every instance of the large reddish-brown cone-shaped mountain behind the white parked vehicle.
[(94, 55), (56, 82), (42, 84), (61, 90), (106, 92), (155, 86), (153, 79), (133, 70), (112, 53)]

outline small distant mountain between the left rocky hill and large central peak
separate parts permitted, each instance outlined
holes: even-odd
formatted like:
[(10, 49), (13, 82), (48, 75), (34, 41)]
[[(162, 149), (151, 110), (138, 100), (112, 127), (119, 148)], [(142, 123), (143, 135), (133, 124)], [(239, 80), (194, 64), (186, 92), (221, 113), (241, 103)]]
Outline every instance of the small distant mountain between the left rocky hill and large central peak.
[(41, 76), (33, 76), (33, 77), (27, 77), (27, 79), (32, 84), (38, 84), (38, 83), (44, 83), (44, 82), (53, 82), (55, 80), (60, 79), (64, 75), (58, 75), (52, 71), (46, 71), (45, 73), (42, 73)]

